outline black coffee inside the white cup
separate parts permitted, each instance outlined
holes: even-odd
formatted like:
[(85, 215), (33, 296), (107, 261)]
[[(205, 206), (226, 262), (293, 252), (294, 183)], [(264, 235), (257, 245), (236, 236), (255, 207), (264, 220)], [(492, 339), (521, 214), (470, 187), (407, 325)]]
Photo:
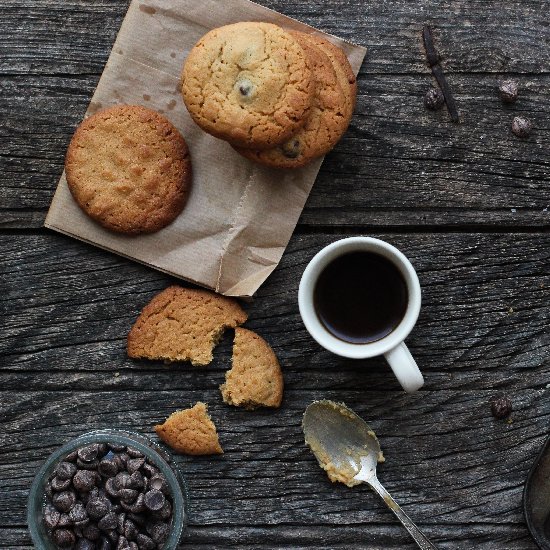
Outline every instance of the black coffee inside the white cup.
[(321, 324), (352, 344), (384, 338), (403, 319), (408, 293), (392, 262), (374, 252), (350, 252), (321, 273), (313, 303)]

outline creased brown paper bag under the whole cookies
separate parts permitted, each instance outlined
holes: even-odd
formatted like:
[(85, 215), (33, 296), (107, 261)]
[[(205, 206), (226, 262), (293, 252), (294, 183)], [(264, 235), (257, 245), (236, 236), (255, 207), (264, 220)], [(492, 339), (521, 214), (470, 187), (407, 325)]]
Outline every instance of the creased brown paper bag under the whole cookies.
[[(132, 1), (86, 116), (117, 103), (164, 113), (191, 151), (189, 201), (168, 227), (129, 237), (88, 218), (63, 174), (46, 227), (221, 294), (254, 294), (279, 263), (322, 159), (298, 170), (264, 168), (191, 120), (179, 92), (183, 62), (206, 32), (238, 21), (318, 32), (248, 0)], [(325, 36), (344, 49), (357, 74), (366, 49)]]

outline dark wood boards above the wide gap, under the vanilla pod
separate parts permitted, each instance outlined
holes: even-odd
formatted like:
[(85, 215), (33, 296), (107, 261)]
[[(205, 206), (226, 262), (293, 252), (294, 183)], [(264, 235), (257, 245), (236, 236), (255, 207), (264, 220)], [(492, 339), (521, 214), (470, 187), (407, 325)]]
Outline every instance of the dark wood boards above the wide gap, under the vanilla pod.
[[(549, 227), (550, 30), (538, 2), (263, 3), (369, 47), (355, 117), (323, 165), (303, 224)], [(126, 7), (10, 0), (3, 12), (0, 227), (42, 225)], [(462, 124), (423, 106), (433, 83), (425, 22), (436, 29)], [(520, 81), (512, 107), (496, 93), (510, 74)], [(516, 114), (535, 124), (528, 140), (510, 132)]]

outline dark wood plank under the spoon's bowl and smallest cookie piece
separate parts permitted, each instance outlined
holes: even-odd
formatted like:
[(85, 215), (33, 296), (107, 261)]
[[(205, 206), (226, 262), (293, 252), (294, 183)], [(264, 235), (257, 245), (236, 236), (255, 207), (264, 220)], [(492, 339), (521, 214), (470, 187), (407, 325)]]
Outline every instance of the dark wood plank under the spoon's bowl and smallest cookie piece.
[[(281, 409), (247, 412), (223, 404), (217, 387), (194, 390), (1, 392), (0, 524), (24, 523), (33, 472), (56, 446), (82, 432), (152, 426), (195, 400), (209, 404), (225, 454), (178, 458), (192, 499), (191, 525), (243, 529), (279, 525), (340, 527), (395, 523), (367, 488), (331, 484), (303, 442), (305, 406), (345, 401), (368, 419), (386, 463), (388, 491), (435, 539), (447, 525), (514, 525), (525, 536), (523, 482), (546, 436), (549, 390), (519, 390), (513, 422), (496, 421), (490, 392), (353, 389), (287, 391)], [(277, 540), (279, 544), (283, 540)]]

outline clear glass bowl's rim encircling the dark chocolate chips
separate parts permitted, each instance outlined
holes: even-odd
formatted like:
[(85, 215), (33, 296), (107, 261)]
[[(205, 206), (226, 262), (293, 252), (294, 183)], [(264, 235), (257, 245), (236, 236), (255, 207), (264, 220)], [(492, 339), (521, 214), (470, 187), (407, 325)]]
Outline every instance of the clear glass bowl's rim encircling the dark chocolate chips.
[(175, 550), (187, 525), (187, 485), (174, 459), (168, 452), (142, 434), (123, 430), (94, 430), (72, 439), (53, 452), (34, 477), (27, 502), (27, 525), (34, 547), (38, 550), (57, 550), (42, 520), (46, 504), (45, 486), (61, 459), (70, 452), (92, 443), (119, 443), (142, 452), (164, 475), (172, 493), (172, 527), (162, 550)]

